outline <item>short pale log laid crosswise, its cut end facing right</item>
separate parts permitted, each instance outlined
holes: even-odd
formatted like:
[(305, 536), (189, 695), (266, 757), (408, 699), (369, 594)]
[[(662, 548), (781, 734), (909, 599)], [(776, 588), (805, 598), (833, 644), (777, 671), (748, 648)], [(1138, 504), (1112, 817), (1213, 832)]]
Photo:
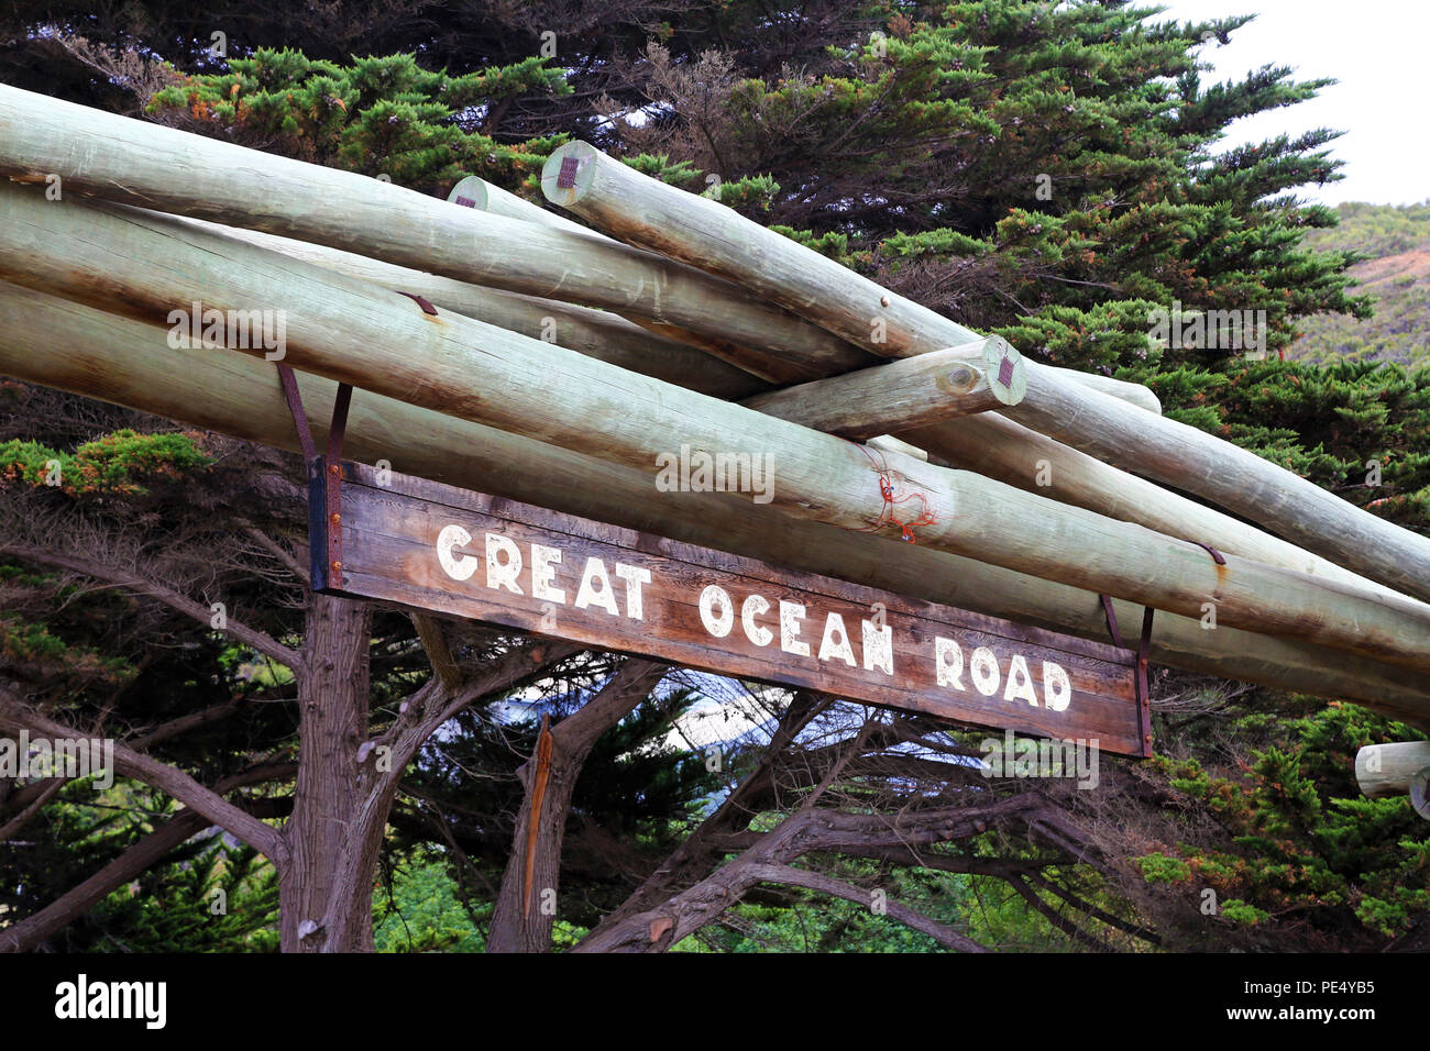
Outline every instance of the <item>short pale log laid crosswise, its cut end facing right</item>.
[(842, 376), (746, 398), (741, 405), (841, 438), (867, 439), (1011, 405), (1022, 360), (1000, 376), (1001, 339), (980, 340)]

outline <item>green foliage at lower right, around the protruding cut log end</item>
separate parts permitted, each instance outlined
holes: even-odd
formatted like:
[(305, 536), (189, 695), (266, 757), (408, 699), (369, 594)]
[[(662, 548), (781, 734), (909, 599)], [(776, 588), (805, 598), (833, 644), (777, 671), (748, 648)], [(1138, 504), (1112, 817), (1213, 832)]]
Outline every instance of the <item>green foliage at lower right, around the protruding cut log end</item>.
[(1293, 719), (1248, 712), (1236, 728), (1266, 742), (1238, 771), (1155, 761), (1223, 837), (1137, 858), (1147, 881), (1211, 888), (1224, 919), (1273, 939), (1300, 925), (1310, 928), (1303, 944), (1369, 948), (1423, 927), (1430, 831), (1407, 799), (1366, 799), (1354, 779), (1360, 748), (1414, 739), (1414, 731), (1340, 702)]

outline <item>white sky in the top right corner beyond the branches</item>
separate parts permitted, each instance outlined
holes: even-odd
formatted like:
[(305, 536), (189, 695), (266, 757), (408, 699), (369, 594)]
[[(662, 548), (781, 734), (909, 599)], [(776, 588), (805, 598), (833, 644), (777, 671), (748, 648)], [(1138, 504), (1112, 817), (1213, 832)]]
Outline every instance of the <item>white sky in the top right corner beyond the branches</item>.
[(1330, 144), (1344, 160), (1338, 183), (1301, 187), (1310, 200), (1410, 204), (1430, 199), (1430, 0), (1161, 0), (1151, 19), (1194, 21), (1257, 14), (1201, 57), (1216, 64), (1203, 84), (1231, 80), (1264, 64), (1291, 66), (1297, 80), (1336, 77), (1311, 102), (1231, 124), (1226, 144), (1344, 132)]

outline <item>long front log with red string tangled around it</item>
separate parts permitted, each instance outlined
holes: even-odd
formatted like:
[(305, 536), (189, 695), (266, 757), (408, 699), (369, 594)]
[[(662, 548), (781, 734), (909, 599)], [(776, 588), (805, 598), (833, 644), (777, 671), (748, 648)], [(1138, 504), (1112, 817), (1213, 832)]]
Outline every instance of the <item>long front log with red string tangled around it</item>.
[[(329, 379), (646, 472), (676, 449), (734, 458), (746, 465), (742, 488), (786, 515), (888, 529), (892, 508), (901, 522), (917, 516), (919, 542), (941, 551), (1430, 671), (1423, 603), (1240, 556), (1214, 563), (1201, 548), (1141, 526), (980, 475), (875, 455), (460, 315), (432, 316), (400, 296), (166, 216), (54, 207), (33, 187), (0, 187), (0, 275), (154, 322), (200, 300), (239, 316), (282, 305), (287, 360)], [(778, 470), (778, 485), (751, 482), (754, 465), (768, 482)]]

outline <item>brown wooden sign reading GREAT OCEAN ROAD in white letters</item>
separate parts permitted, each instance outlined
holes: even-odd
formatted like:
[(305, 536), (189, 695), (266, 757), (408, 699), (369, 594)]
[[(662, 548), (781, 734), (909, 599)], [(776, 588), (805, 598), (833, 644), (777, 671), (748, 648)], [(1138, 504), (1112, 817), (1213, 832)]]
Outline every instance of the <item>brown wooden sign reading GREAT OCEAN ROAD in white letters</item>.
[(1151, 754), (1130, 651), (358, 463), (337, 476), (333, 466), (310, 466), (316, 591)]

